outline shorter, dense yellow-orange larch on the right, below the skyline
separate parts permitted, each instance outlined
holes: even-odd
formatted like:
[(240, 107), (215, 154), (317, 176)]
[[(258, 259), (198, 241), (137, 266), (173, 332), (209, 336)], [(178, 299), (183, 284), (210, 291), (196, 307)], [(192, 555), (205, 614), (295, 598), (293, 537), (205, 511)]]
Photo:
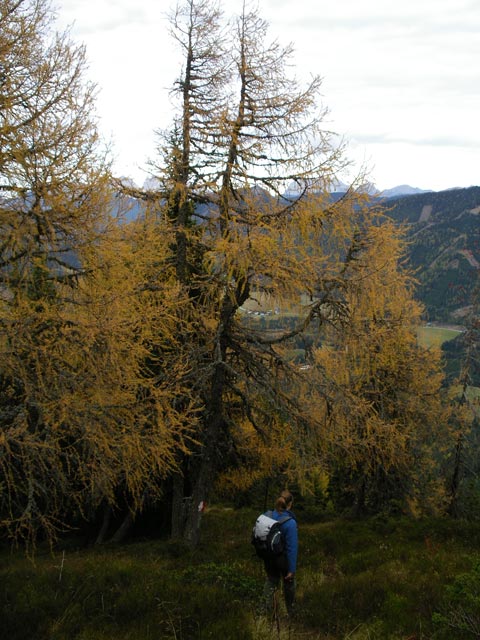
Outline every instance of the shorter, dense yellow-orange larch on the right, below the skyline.
[[(348, 322), (324, 333), (309, 375), (327, 459), (365, 478), (379, 469), (408, 478), (413, 505), (415, 487), (436, 482), (432, 470), (451, 432), (440, 353), (417, 344), (421, 308), (400, 257), (390, 224), (368, 230), (357, 257), (362, 268), (345, 291)], [(433, 489), (424, 493), (439, 498)]]

